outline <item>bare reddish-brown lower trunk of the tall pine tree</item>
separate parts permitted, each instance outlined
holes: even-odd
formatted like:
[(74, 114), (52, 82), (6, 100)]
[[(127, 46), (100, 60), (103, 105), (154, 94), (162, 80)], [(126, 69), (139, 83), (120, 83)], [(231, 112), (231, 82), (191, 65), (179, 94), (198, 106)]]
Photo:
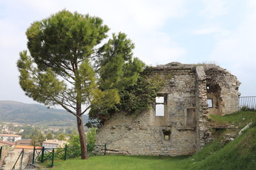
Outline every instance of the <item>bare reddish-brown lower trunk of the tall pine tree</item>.
[(85, 130), (84, 130), (84, 125), (82, 123), (81, 104), (77, 104), (77, 114), (80, 117), (80, 119), (77, 118), (77, 123), (78, 123), (78, 133), (79, 133), (80, 146), (81, 146), (81, 159), (88, 159)]

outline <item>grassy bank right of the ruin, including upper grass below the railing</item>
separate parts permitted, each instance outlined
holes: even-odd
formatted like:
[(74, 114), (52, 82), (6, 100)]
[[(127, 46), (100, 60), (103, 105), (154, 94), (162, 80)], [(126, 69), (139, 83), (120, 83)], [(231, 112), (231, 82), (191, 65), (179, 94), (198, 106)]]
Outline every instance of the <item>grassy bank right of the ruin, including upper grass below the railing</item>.
[(240, 137), (236, 138), (228, 145), (221, 144), (223, 134), (233, 133), (238, 135), (240, 129), (247, 123), (256, 122), (256, 112), (238, 112), (230, 115), (211, 115), (211, 121), (217, 125), (233, 125), (236, 128), (215, 132), (215, 142), (204, 147), (193, 157), (184, 160), (188, 164), (184, 169), (256, 169), (256, 128), (253, 125)]

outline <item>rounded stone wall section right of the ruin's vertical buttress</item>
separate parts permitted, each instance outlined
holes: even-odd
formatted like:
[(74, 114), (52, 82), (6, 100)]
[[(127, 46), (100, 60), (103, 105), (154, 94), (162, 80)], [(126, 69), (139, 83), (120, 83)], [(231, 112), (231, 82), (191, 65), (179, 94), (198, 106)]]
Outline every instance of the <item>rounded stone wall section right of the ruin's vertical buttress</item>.
[(213, 108), (209, 114), (225, 115), (239, 110), (238, 88), (240, 81), (226, 69), (220, 67), (205, 68), (208, 86), (208, 98), (213, 98)]

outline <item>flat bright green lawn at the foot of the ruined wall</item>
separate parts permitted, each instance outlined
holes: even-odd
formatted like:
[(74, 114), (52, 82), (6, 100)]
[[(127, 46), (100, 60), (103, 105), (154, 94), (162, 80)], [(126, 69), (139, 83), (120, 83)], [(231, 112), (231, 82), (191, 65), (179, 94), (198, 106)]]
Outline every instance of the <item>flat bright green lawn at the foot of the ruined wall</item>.
[(56, 162), (53, 169), (101, 169), (101, 170), (143, 170), (182, 169), (181, 162), (186, 157), (146, 157), (146, 156), (95, 156), (87, 160), (72, 159)]

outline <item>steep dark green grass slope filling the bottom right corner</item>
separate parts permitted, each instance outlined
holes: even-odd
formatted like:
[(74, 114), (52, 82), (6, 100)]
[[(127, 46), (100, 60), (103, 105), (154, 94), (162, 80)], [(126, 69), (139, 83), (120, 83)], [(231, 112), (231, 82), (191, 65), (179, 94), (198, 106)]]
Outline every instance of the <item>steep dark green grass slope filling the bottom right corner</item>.
[[(219, 144), (214, 142), (208, 147), (212, 146), (217, 149)], [(209, 153), (208, 147), (203, 150)], [(213, 152), (210, 153), (205, 159), (201, 157), (201, 152), (191, 157), (190, 160), (194, 159), (195, 162), (198, 157), (200, 158), (198, 162), (191, 164), (189, 169), (256, 169), (256, 128), (250, 128), (236, 140), (225, 145), (223, 149), (218, 149), (215, 152), (213, 149)]]

